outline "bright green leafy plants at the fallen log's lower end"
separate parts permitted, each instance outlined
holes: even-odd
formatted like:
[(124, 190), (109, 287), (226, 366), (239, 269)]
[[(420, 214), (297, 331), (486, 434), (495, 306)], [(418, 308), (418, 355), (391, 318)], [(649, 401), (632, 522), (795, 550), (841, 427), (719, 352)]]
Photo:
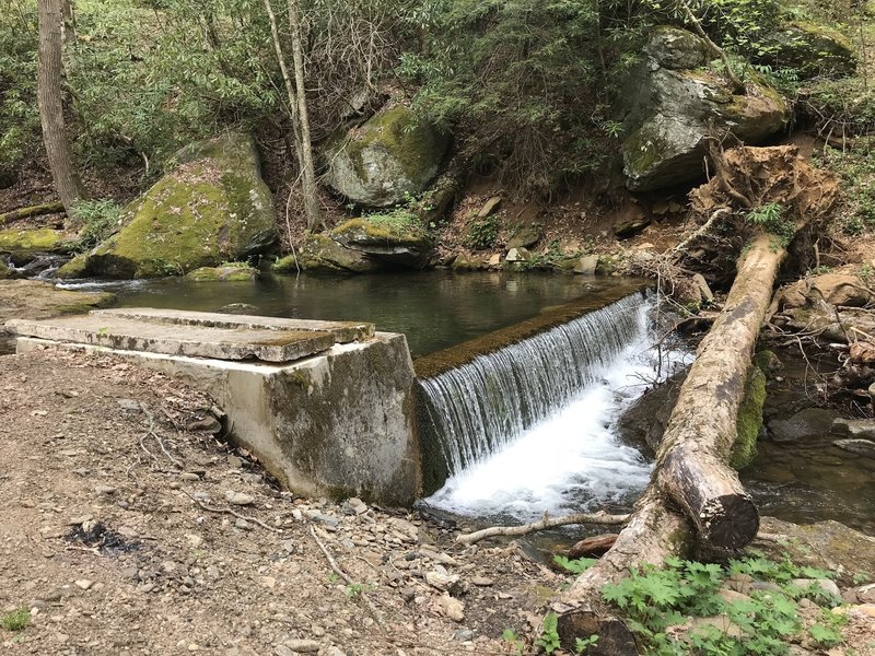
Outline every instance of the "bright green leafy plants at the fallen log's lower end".
[[(594, 561), (557, 558), (556, 562), (579, 574)], [(780, 656), (789, 652), (790, 642), (802, 639), (819, 648), (841, 644), (840, 628), (845, 619), (825, 611), (841, 599), (817, 583), (805, 587), (793, 583), (830, 576), (790, 559), (775, 562), (755, 555), (720, 565), (668, 558), (663, 569), (631, 569), (618, 584), (606, 585), (602, 597), (628, 617), (627, 624), (639, 636), (645, 654)], [(744, 596), (727, 594), (723, 587), (727, 577), (752, 579), (750, 589)], [(800, 614), (798, 601), (803, 598), (822, 607), (813, 610), (815, 620), (807, 628)], [(708, 621), (697, 623), (695, 618), (719, 618), (730, 629)], [(551, 625), (545, 620), (547, 633)], [(541, 640), (548, 642), (544, 636)]]

